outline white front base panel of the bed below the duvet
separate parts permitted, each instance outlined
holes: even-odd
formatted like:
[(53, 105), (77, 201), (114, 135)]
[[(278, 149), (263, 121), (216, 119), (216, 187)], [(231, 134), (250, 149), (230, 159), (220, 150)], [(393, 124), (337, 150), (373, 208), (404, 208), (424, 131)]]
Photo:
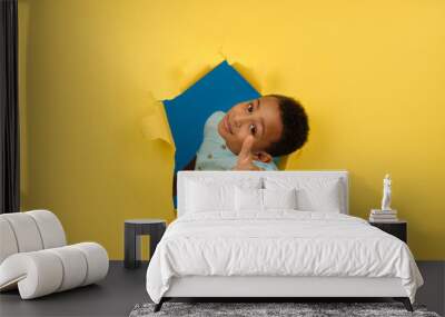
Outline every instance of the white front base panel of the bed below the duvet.
[(407, 297), (399, 278), (174, 277), (164, 297)]

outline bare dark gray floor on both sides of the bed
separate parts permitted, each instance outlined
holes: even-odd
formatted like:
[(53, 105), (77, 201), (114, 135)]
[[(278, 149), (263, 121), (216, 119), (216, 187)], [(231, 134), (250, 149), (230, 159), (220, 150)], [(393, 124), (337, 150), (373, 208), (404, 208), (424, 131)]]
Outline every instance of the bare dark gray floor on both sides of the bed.
[[(445, 262), (419, 261), (425, 279), (416, 297), (417, 304), (444, 315)], [(0, 294), (0, 316), (128, 316), (138, 303), (149, 301), (145, 288), (147, 265), (125, 269), (121, 261), (111, 261), (105, 280), (98, 285), (21, 300), (18, 291)]]

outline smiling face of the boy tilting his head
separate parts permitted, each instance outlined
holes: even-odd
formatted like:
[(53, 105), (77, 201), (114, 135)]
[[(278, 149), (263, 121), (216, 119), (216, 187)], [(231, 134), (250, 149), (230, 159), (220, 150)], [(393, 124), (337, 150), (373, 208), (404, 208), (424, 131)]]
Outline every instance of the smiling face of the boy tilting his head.
[(241, 150), (246, 137), (254, 136), (251, 152), (259, 155), (263, 161), (264, 155), (267, 155), (264, 150), (280, 138), (281, 131), (283, 122), (275, 97), (261, 97), (235, 105), (218, 123), (219, 135), (236, 155)]

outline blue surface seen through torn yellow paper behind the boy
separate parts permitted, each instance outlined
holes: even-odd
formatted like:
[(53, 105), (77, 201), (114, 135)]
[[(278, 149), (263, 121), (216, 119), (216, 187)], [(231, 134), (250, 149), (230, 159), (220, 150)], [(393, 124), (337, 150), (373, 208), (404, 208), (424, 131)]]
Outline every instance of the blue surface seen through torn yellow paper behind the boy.
[(175, 174), (195, 157), (211, 113), (226, 112), (240, 101), (258, 97), (259, 92), (224, 61), (175, 99), (164, 100), (176, 146)]

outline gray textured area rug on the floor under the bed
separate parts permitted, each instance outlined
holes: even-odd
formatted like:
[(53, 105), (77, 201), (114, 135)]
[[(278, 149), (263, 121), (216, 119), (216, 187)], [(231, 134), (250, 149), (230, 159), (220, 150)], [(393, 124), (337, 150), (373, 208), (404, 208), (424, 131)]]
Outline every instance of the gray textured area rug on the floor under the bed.
[(422, 316), (439, 317), (424, 306), (414, 306), (409, 313), (400, 303), (165, 303), (162, 309), (154, 313), (155, 304), (138, 304), (130, 317), (148, 316)]

